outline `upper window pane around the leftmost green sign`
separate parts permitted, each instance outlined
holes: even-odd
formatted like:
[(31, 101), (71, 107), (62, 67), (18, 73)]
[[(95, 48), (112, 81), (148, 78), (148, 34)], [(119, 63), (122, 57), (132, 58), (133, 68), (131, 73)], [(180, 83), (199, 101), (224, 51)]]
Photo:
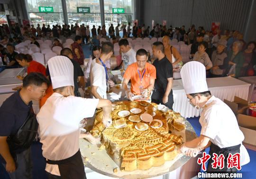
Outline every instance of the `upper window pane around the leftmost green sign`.
[(39, 6), (53, 7), (54, 12), (63, 12), (61, 0), (27, 0), (27, 12), (39, 12)]

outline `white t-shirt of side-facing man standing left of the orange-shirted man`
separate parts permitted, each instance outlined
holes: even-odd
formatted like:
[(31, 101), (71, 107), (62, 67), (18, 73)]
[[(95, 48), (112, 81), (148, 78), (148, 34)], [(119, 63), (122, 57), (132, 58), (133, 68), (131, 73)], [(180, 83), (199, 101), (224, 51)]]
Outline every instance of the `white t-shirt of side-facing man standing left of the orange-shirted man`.
[(98, 87), (97, 92), (101, 98), (107, 99), (106, 72), (101, 64), (96, 63), (96, 58), (91, 62), (90, 79), (91, 86)]

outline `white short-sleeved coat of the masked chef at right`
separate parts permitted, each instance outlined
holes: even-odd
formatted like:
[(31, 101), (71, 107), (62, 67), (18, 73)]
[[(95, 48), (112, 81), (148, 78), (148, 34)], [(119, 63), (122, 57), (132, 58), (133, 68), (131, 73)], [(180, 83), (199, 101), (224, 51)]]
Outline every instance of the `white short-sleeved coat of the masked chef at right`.
[(201, 134), (220, 148), (238, 145), (244, 140), (237, 118), (223, 101), (212, 96), (202, 107)]

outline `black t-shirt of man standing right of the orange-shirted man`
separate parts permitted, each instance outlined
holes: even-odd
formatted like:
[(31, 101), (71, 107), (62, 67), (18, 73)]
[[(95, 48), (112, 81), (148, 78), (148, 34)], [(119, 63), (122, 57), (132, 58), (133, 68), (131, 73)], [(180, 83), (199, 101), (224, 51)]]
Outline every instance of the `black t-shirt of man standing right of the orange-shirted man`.
[(173, 65), (166, 56), (160, 61), (156, 59), (153, 65), (156, 69), (155, 89), (165, 92), (168, 84), (167, 79), (173, 78)]

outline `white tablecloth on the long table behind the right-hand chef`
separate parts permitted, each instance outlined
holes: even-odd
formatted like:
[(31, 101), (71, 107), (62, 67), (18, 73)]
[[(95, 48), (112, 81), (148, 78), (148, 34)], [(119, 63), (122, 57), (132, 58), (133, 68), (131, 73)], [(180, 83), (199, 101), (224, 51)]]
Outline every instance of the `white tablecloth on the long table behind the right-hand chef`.
[[(250, 84), (232, 77), (208, 78), (208, 89), (215, 97), (224, 100), (234, 100), (234, 96), (247, 100)], [(200, 116), (200, 110), (194, 109), (188, 102), (182, 80), (174, 80), (174, 111), (184, 117)]]

